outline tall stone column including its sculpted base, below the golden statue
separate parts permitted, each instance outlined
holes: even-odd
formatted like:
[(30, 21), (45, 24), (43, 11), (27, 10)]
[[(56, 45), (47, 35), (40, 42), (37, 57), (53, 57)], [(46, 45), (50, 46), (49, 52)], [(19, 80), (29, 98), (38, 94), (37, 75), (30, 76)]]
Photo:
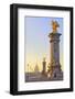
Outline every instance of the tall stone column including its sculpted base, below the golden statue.
[(60, 64), (60, 33), (50, 33), (50, 77), (52, 79), (63, 79)]

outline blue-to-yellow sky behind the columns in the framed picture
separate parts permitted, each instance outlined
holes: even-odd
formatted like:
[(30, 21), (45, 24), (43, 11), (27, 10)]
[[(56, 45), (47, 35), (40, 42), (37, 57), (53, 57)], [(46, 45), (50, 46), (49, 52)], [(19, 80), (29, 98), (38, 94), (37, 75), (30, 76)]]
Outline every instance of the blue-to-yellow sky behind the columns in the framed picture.
[(52, 21), (57, 21), (60, 24), (58, 33), (62, 34), (60, 42), (60, 62), (63, 67), (63, 19), (25, 16), (25, 72), (33, 72), (36, 64), (39, 65), (39, 69), (42, 70), (43, 57), (46, 58), (46, 65), (50, 63), (49, 34), (52, 32)]

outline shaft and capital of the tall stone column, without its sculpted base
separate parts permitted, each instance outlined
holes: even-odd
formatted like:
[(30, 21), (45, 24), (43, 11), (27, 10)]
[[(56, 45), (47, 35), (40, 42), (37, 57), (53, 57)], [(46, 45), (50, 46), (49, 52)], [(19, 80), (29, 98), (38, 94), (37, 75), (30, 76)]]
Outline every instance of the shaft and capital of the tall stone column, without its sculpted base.
[(50, 33), (51, 66), (60, 66), (60, 33)]

